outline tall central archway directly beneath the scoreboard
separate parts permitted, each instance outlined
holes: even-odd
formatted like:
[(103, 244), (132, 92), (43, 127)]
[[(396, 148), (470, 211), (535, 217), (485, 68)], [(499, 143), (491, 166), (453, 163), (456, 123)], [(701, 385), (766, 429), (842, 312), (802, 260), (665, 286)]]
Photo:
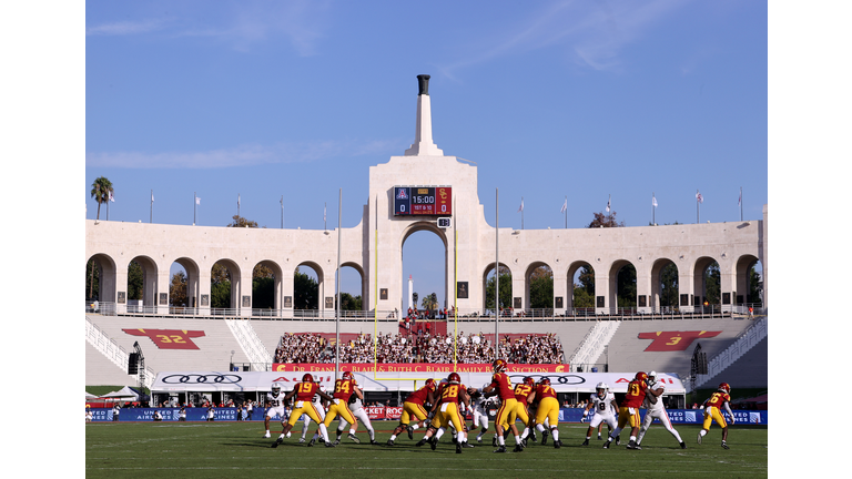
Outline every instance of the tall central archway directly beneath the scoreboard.
[[(426, 316), (429, 319), (444, 318), (446, 310), (453, 307), (455, 294), (448, 283), (446, 242), (444, 231), (433, 223), (414, 223), (403, 234), (400, 310), (407, 313), (409, 298), (416, 309), (422, 312), (418, 316)], [(409, 277), (413, 285), (410, 292), (408, 291)]]

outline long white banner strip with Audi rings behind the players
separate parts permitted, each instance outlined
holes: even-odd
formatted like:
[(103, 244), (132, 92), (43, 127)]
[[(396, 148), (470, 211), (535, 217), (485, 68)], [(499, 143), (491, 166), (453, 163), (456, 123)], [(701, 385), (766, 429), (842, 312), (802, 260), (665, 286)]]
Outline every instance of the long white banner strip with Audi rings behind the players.
[[(433, 365), (435, 366), (435, 365)], [(459, 365), (462, 366), (462, 365)], [(452, 371), (452, 370), (450, 370)], [(426, 379), (440, 380), (450, 371), (355, 371), (353, 373), (358, 387), (365, 391), (413, 391)], [(151, 386), (152, 393), (215, 393), (215, 391), (250, 391), (266, 393), (273, 383), (281, 383), (285, 391), (302, 381), (305, 374), (311, 374), (315, 383), (327, 389), (334, 387), (334, 370), (329, 371), (163, 371), (156, 375)], [(626, 393), (627, 385), (633, 378), (632, 373), (549, 373), (549, 371), (508, 371), (513, 384), (523, 383), (525, 377), (538, 381), (550, 379), (551, 387), (557, 393), (595, 393), (598, 383), (606, 383), (612, 393)], [(459, 370), (462, 383), (469, 387), (480, 388), (491, 383), (490, 367), (487, 371)], [(686, 388), (676, 374), (659, 374), (658, 383), (666, 386), (667, 395), (683, 395)]]

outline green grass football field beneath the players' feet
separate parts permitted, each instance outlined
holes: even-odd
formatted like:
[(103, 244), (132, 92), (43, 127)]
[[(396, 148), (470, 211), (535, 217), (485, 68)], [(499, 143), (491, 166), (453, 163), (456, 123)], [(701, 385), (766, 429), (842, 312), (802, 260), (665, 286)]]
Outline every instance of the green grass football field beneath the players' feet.
[[(332, 435), (335, 434), (332, 425)], [(687, 442), (681, 449), (662, 426), (655, 425), (642, 440), (642, 450), (627, 450), (629, 436), (622, 431), (621, 446), (602, 449), (604, 441), (592, 437), (590, 446), (580, 444), (587, 426), (559, 426), (561, 449), (555, 449), (551, 438), (547, 446), (529, 442), (523, 452), (494, 453), (491, 431), (483, 445), (464, 449), (457, 455), (449, 434), (436, 450), (426, 445), (415, 447), (424, 430), (415, 431), (415, 440), (403, 432), (393, 447), (385, 446), (396, 426), (392, 421), (375, 421), (376, 440), (361, 426), (362, 444), (346, 439), (339, 446), (312, 448), (297, 444), (302, 424), (293, 428), (292, 437), (277, 448), (271, 448), (281, 426), (271, 425), (272, 438), (263, 437), (262, 422), (92, 422), (85, 426), (85, 476), (88, 478), (171, 477), (222, 478), (258, 472), (264, 476), (302, 478), (400, 478), (428, 470), (437, 477), (465, 478), (564, 478), (588, 472), (589, 477), (765, 477), (768, 468), (768, 429), (757, 426), (731, 427), (728, 445), (720, 447), (721, 430), (713, 426), (698, 445), (699, 426), (677, 426)], [(315, 428), (308, 434), (313, 435)], [(277, 431), (277, 432), (276, 432)], [(606, 436), (606, 427), (604, 428)], [(539, 437), (540, 441), (540, 437)], [(515, 439), (509, 438), (507, 450)]]

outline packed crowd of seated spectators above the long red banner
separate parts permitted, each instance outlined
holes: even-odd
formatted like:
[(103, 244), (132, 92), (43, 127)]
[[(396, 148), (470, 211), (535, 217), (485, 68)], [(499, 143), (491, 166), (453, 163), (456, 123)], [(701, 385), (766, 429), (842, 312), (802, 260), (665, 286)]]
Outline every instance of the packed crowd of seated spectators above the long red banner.
[[(527, 335), (515, 340), (505, 337), (500, 357), (513, 364), (561, 364), (562, 345), (556, 335)], [(334, 363), (335, 348), (318, 334), (285, 334), (275, 350), (275, 363)], [(455, 356), (455, 358), (454, 358)], [(491, 342), (483, 334), (378, 335), (377, 348), (368, 334), (341, 345), (341, 363), (463, 363), (490, 364), (495, 359)]]

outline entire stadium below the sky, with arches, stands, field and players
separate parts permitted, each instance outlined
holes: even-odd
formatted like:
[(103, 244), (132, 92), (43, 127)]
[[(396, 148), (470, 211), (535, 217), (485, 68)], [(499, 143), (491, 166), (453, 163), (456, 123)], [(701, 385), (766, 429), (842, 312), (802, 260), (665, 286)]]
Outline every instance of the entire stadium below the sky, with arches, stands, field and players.
[[(478, 166), (433, 140), (439, 92), (426, 74), (417, 88), (414, 143), (369, 167), (356, 227), (85, 221), (87, 476), (768, 475), (768, 205), (724, 223), (491, 226)], [(444, 304), (404, 279), (423, 231), (445, 247)], [(359, 308), (336, 300), (344, 267)]]

